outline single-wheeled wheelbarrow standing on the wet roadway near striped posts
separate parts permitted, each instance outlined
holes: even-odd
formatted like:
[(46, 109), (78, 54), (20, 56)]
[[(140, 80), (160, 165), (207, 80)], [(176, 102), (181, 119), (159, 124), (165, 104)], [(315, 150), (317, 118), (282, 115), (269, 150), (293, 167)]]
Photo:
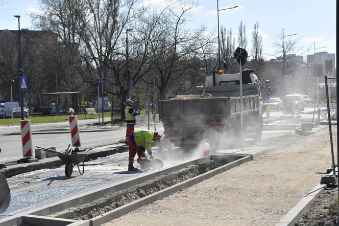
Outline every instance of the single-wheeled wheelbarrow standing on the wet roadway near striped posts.
[[(84, 154), (79, 154), (76, 152), (72, 152), (73, 151), (72, 149), (69, 150), (69, 146), (70, 145), (68, 145), (66, 152), (56, 151), (50, 148), (44, 148), (44, 147), (39, 147), (39, 146), (36, 146), (36, 147), (42, 151), (48, 151), (48, 152), (55, 153), (59, 157), (59, 159), (63, 163), (65, 163), (65, 175), (67, 177), (70, 177), (72, 175), (73, 167), (75, 166), (78, 167), (79, 173), (80, 175), (82, 175), (84, 174), (84, 161), (86, 160), (87, 152), (90, 151), (92, 148), (89, 148)], [(80, 170), (80, 167), (79, 167), (80, 163), (82, 163), (82, 170)]]

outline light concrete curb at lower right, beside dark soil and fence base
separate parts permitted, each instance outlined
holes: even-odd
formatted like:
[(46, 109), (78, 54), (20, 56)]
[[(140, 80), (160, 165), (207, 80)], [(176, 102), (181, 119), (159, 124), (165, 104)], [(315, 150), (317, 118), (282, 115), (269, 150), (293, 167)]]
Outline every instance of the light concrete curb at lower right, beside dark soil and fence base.
[(321, 195), (323, 193), (326, 185), (317, 185), (314, 187), (306, 196), (304, 196), (292, 210), (290, 210), (280, 221), (276, 224), (276, 226), (294, 226), (303, 214), (307, 213), (311, 208), (312, 202), (314, 198)]

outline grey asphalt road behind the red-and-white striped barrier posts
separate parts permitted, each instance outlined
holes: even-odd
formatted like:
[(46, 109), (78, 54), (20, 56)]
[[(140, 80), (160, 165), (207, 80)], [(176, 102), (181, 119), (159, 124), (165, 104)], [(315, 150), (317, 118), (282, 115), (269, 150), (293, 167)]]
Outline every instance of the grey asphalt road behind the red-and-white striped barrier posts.
[[(107, 119), (107, 121), (108, 120), (109, 119)], [(113, 144), (117, 143), (121, 139), (125, 139), (126, 126), (124, 124), (114, 124), (112, 126), (90, 125), (97, 121), (97, 119), (79, 120), (81, 148)], [(136, 125), (136, 129), (139, 128), (147, 129), (148, 126), (147, 124)], [(95, 132), (95, 130), (98, 129), (101, 131)], [(150, 129), (154, 129), (153, 124)], [(162, 124), (157, 123), (156, 129), (157, 131), (162, 132)], [(20, 132), (20, 127), (3, 126), (0, 130), (0, 147), (2, 149), (2, 152), (0, 153), (0, 162), (17, 161), (22, 158), (21, 135), (18, 133)], [(56, 147), (57, 150), (64, 151), (68, 144), (71, 143), (68, 122), (32, 125), (31, 130), (33, 132), (33, 147)], [(82, 130), (86, 132), (81, 132)], [(34, 134), (35, 131), (43, 133)]]

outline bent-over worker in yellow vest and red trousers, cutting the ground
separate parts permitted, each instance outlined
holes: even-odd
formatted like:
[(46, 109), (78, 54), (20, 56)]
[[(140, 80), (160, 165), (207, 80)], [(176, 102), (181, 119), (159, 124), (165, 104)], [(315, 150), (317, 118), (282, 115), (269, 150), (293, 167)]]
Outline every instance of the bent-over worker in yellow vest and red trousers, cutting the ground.
[[(136, 130), (129, 135), (129, 157), (128, 157), (128, 171), (137, 171), (134, 168), (133, 162), (135, 154), (138, 154), (138, 163), (140, 161), (148, 161), (145, 155), (145, 150), (153, 159), (152, 155), (152, 142), (160, 142), (161, 135), (158, 132), (153, 132), (147, 129)], [(141, 164), (140, 164), (141, 165)]]

